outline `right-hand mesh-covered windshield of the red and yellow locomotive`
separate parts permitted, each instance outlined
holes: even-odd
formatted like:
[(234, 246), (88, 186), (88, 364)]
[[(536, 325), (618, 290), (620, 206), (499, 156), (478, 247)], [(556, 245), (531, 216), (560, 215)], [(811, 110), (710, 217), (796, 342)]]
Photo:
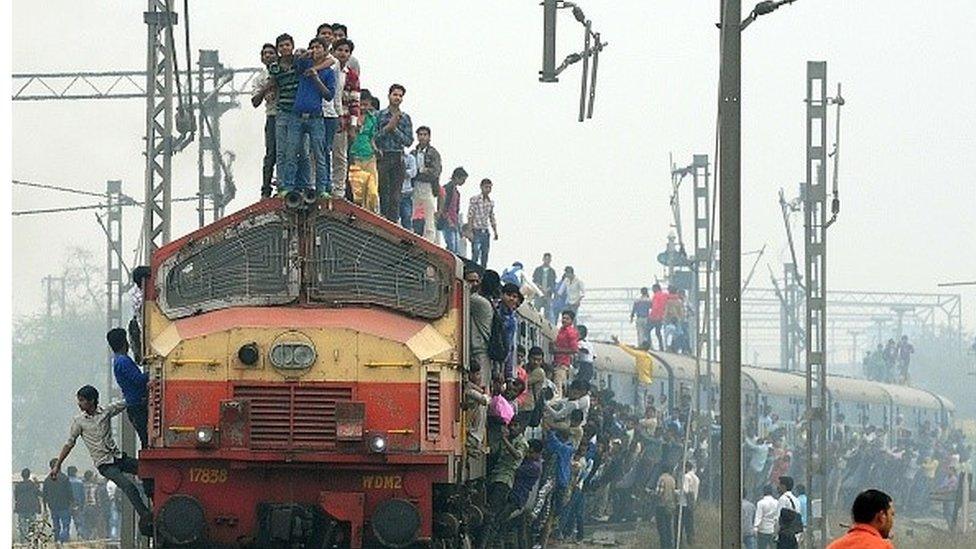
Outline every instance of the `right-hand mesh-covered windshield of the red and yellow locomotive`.
[(353, 223), (316, 221), (309, 299), (379, 305), (423, 318), (443, 315), (450, 290), (445, 269), (417, 246)]

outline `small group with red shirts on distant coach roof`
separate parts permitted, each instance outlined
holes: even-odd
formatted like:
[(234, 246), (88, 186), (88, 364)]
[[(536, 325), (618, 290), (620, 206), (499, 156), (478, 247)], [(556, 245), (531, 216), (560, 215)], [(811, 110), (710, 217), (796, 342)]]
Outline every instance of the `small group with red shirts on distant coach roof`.
[(665, 290), (660, 284), (651, 286), (650, 292), (641, 288), (630, 309), (630, 321), (637, 328), (639, 348), (692, 354), (695, 305), (683, 288), (669, 285)]

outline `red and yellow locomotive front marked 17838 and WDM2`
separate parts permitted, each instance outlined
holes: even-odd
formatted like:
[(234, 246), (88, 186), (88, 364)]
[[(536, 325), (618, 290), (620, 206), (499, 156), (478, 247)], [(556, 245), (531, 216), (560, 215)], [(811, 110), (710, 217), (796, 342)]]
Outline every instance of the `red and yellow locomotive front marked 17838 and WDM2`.
[(459, 269), (338, 201), (266, 200), (161, 248), (140, 453), (157, 544), (429, 540), (462, 457)]

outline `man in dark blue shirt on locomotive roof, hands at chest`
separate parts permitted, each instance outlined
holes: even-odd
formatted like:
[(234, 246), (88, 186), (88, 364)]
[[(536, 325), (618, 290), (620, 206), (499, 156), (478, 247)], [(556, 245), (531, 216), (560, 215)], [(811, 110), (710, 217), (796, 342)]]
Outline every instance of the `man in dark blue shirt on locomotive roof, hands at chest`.
[(413, 144), (413, 122), (401, 110), (407, 89), (393, 84), (389, 90), (389, 105), (376, 118), (373, 143), (380, 175), (380, 212), (396, 223), (400, 218), (400, 186), (403, 184), (403, 150)]

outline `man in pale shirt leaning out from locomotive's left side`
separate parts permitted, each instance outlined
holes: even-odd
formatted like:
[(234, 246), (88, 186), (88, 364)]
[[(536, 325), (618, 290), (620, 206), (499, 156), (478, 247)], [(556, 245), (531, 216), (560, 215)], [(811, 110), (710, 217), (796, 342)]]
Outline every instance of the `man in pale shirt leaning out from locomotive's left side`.
[[(76, 396), (81, 413), (71, 421), (68, 440), (51, 465), (50, 477), (58, 478), (61, 474), (61, 464), (71, 453), (80, 436), (88, 447), (88, 453), (91, 454), (92, 463), (98, 472), (114, 482), (129, 498), (132, 507), (139, 514), (139, 530), (143, 535), (151, 536), (152, 512), (143, 502), (139, 488), (126, 476), (126, 473), (138, 474), (139, 461), (122, 453), (115, 444), (115, 439), (112, 438), (112, 417), (126, 408), (125, 402), (113, 402), (106, 407), (99, 406), (98, 390), (91, 385), (78, 389)], [(146, 492), (152, 497), (152, 488), (148, 482)]]

